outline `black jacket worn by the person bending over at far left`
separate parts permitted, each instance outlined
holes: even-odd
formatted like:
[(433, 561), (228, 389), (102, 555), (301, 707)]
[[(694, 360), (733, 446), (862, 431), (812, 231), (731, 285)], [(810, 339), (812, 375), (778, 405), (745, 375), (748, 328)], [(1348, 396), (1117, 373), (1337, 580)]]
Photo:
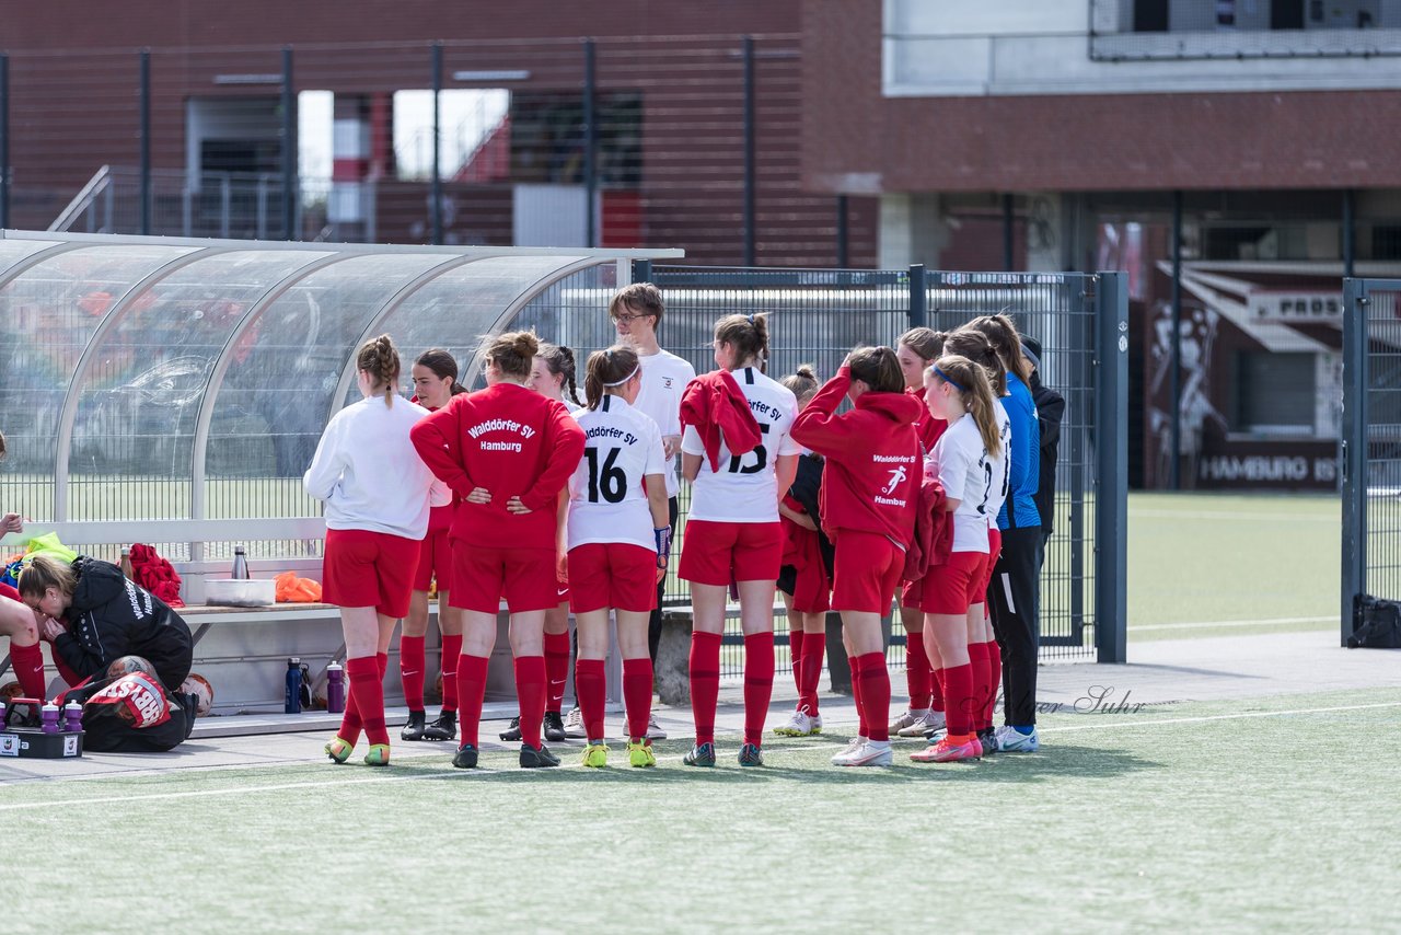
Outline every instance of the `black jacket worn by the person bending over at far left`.
[(193, 639), (165, 601), (129, 582), (122, 569), (87, 555), (73, 562), (78, 583), (69, 606), (69, 632), (53, 641), (80, 676), (102, 678), (122, 656), (144, 656), (171, 691), (189, 676)]

